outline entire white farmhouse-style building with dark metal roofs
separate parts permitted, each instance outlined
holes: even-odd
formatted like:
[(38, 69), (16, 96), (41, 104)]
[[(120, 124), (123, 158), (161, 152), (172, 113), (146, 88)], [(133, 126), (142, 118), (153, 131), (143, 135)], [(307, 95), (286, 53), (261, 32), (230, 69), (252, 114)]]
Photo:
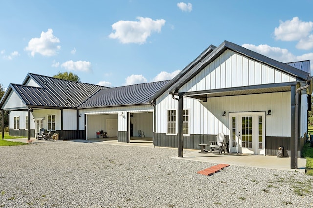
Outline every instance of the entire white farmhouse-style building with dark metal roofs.
[(10, 135), (29, 139), (41, 128), (61, 139), (144, 135), (183, 157), (183, 148), (223, 132), (230, 152), (276, 155), (281, 146), (296, 168), (311, 94), (309, 60), (282, 63), (224, 41), (170, 81), (107, 88), (28, 74), (10, 84), (0, 108), (10, 112)]

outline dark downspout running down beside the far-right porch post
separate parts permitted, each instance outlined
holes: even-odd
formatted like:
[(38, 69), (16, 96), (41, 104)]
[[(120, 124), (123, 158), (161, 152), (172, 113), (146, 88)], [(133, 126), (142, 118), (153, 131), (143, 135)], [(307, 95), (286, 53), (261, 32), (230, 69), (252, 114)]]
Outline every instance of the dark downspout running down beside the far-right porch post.
[[(306, 84), (305, 86), (301, 86), (301, 85), (304, 85)], [(294, 149), (295, 149), (295, 157), (294, 157), (294, 168), (295, 169), (298, 169), (298, 142), (299, 142), (299, 91), (300, 90), (304, 90), (304, 91), (301, 91), (301, 94), (302, 93), (306, 93), (306, 90), (308, 87), (310, 86), (310, 81), (303, 81), (303, 82), (300, 82), (300, 87), (295, 91), (295, 146), (294, 146)]]

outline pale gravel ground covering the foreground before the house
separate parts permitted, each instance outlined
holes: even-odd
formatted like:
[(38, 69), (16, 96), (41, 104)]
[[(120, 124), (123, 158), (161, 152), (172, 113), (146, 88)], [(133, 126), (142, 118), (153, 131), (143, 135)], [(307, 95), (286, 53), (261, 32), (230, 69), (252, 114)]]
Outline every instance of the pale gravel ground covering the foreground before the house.
[[(184, 153), (187, 153), (184, 150)], [(0, 207), (313, 207), (295, 171), (173, 159), (177, 149), (51, 141), (0, 147)]]

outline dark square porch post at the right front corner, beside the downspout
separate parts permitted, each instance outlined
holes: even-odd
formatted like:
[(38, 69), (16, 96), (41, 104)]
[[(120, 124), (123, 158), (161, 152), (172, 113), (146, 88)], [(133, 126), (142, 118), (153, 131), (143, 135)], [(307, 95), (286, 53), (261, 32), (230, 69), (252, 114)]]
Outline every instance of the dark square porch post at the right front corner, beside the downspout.
[(297, 119), (295, 117), (295, 98), (296, 98), (296, 93), (295, 93), (295, 85), (291, 86), (291, 113), (290, 113), (290, 168), (295, 169), (295, 131), (296, 131), (296, 126), (295, 126), (295, 120)]

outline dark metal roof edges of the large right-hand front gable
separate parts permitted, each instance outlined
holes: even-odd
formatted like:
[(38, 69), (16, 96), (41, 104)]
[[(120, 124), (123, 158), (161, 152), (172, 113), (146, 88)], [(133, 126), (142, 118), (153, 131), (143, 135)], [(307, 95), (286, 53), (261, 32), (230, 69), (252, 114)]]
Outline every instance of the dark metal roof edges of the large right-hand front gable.
[(167, 88), (164, 87), (163, 89), (161, 89), (153, 98), (151, 98), (150, 102), (151, 103), (154, 102), (154, 100), (157, 97), (159, 97), (161, 94), (163, 94), (166, 91), (169, 91), (170, 93), (177, 93), (180, 87), (182, 87), (185, 83), (190, 81), (202, 69), (204, 69), (207, 65), (213, 62), (217, 57), (219, 57), (227, 49), (232, 50), (236, 53), (242, 54), (243, 56), (246, 56), (255, 61), (267, 64), (279, 71), (282, 71), (286, 74), (294, 76), (297, 79), (307, 80), (308, 77), (310, 77), (310, 73), (306, 71), (302, 71), (288, 64), (278, 62), (276, 60), (268, 58), (254, 51), (248, 50), (242, 46), (236, 45), (232, 42), (224, 41), (217, 48), (214, 48), (214, 50), (211, 51), (210, 53), (204, 54), (204, 56), (201, 57), (201, 60), (199, 60), (199, 62), (196, 62), (195, 64), (192, 64), (192, 65), (189, 64), (188, 66), (190, 67), (187, 66), (185, 69), (183, 69), (181, 73), (173, 79), (173, 82), (168, 84), (166, 86)]

